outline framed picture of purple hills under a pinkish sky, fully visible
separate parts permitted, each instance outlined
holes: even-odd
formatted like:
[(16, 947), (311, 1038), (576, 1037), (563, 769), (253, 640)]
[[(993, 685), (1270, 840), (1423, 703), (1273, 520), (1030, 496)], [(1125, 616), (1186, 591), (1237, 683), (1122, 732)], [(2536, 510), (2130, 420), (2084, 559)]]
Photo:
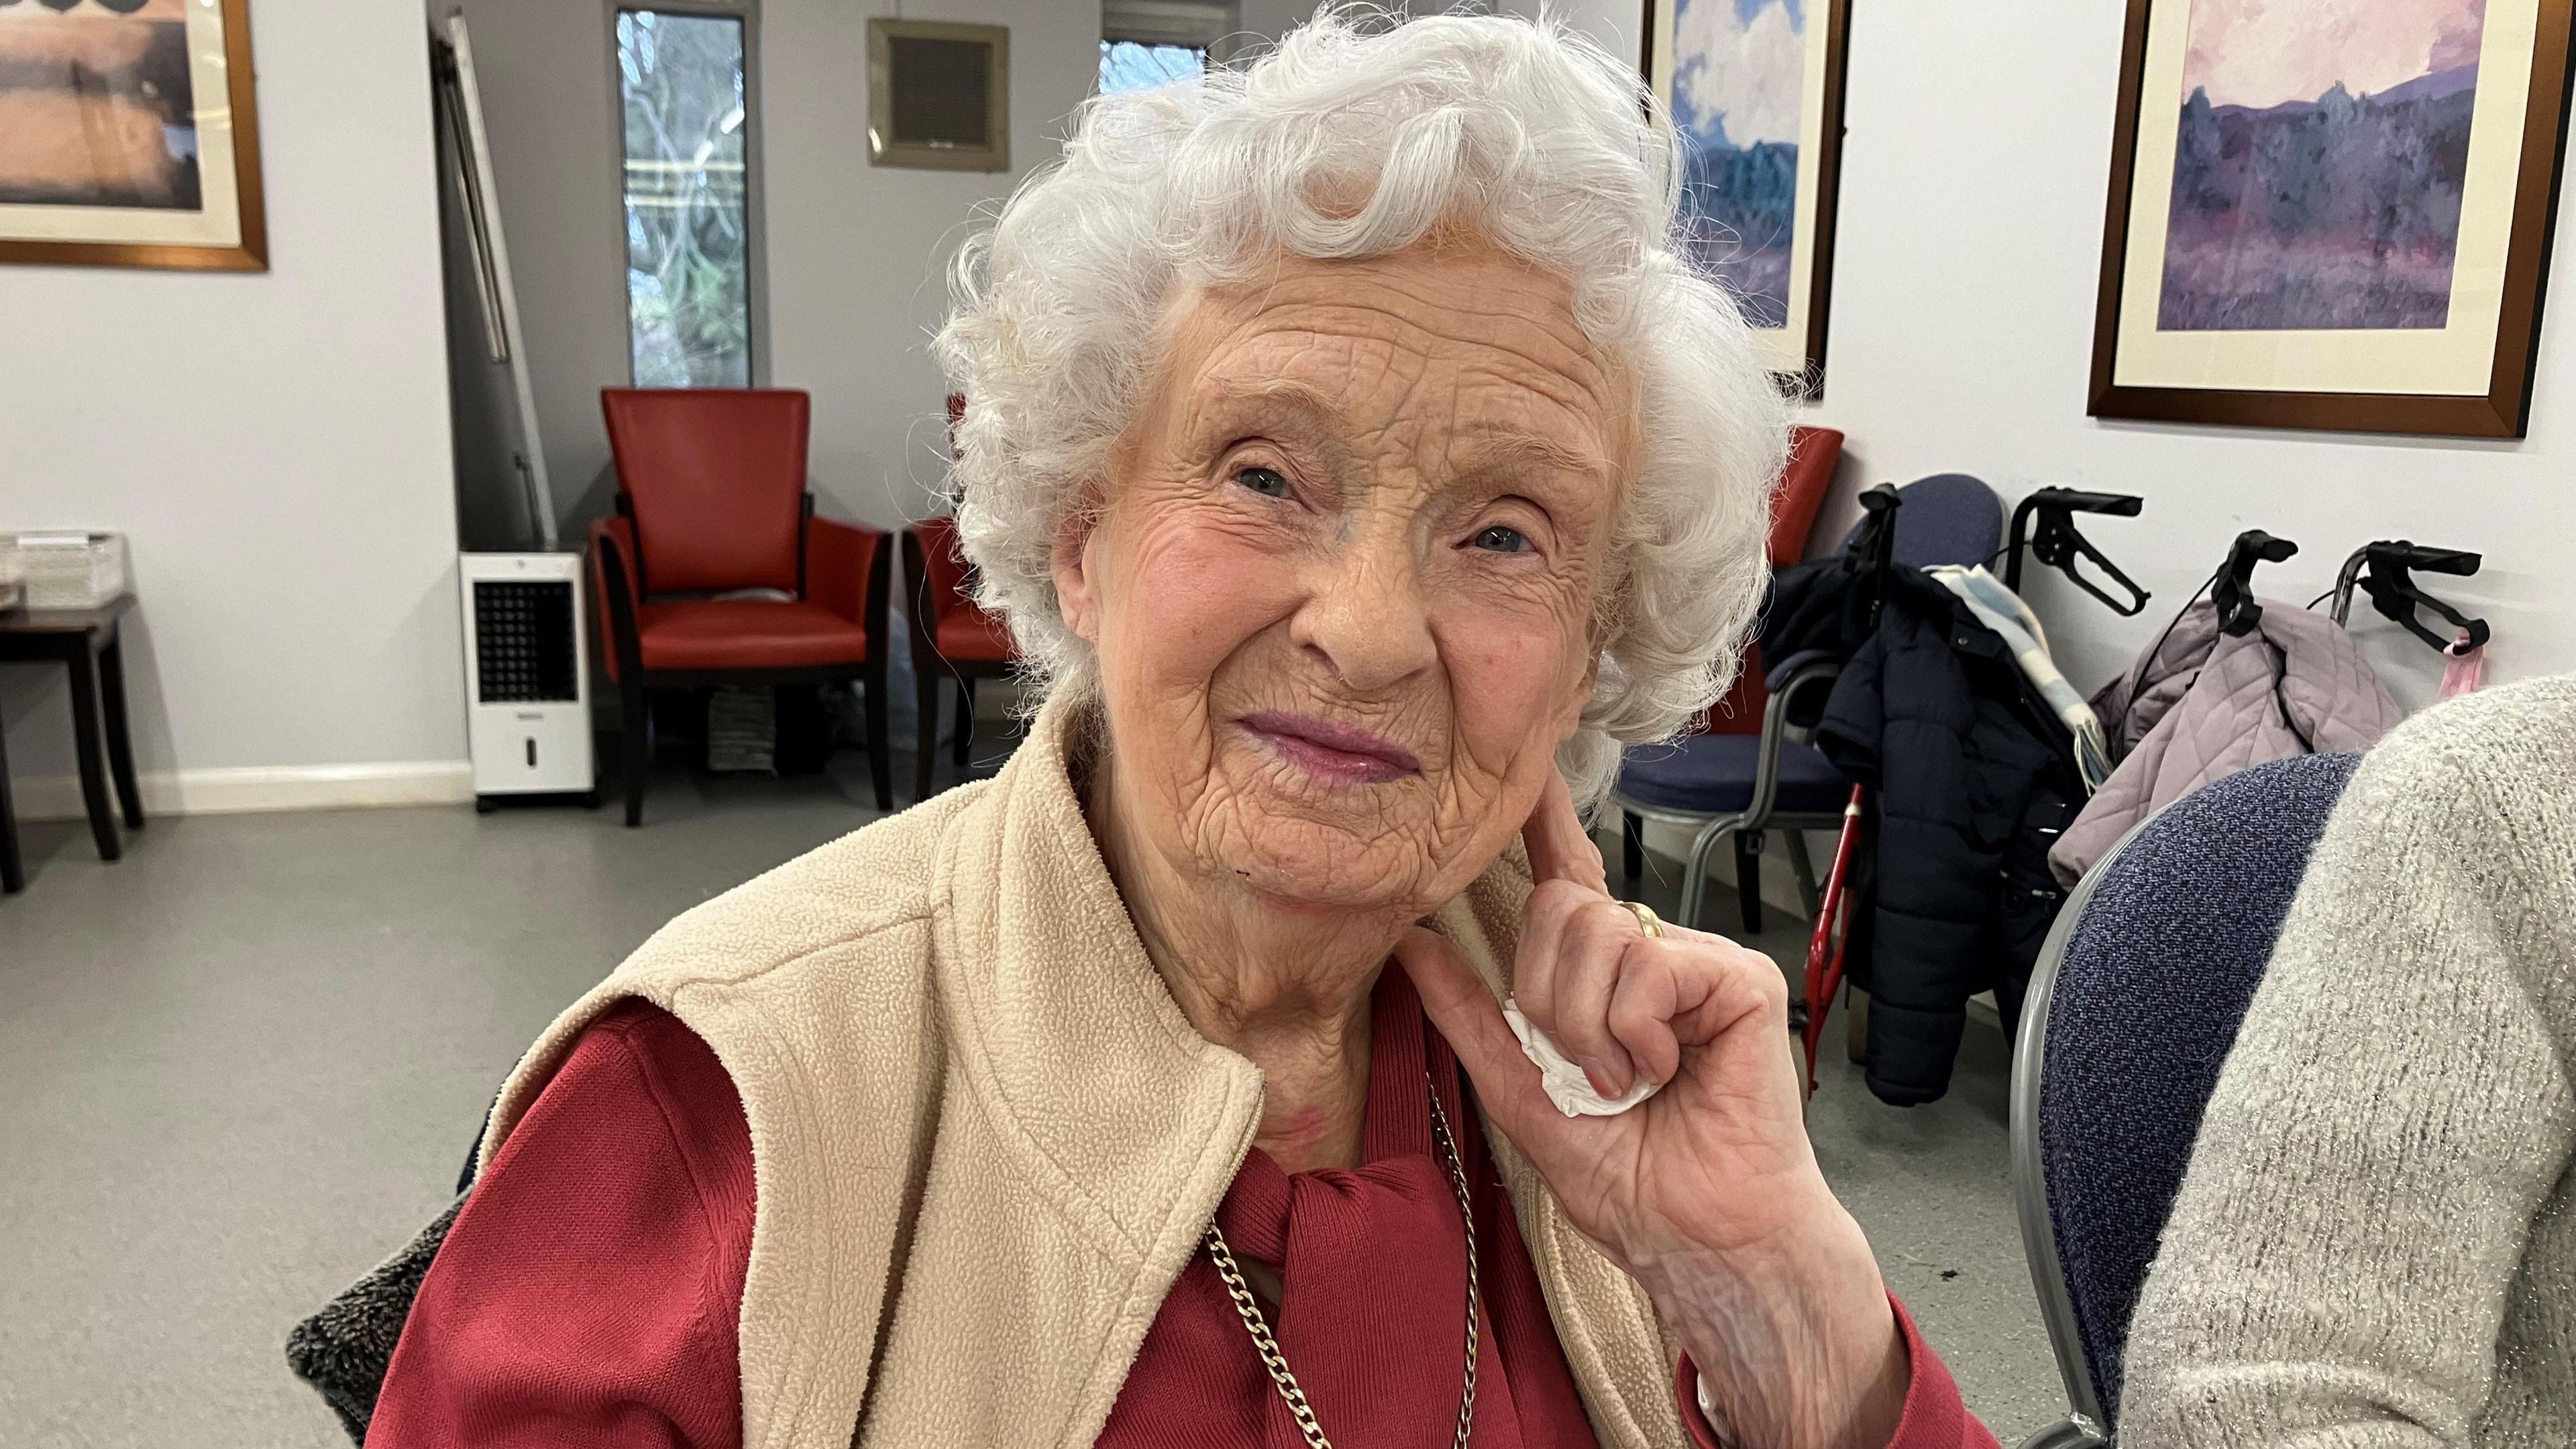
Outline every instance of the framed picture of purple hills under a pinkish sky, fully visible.
[(2130, 0), (2092, 415), (2519, 438), (2571, 0)]

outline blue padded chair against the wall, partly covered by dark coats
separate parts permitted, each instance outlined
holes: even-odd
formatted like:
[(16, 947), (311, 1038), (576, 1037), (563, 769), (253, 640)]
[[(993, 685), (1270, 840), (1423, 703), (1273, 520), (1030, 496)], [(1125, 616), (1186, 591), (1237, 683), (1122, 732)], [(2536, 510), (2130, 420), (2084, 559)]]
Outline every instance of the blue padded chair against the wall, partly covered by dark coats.
[[(1942, 472), (1896, 490), (1893, 557), (1904, 567), (1981, 565), (2004, 536), (2004, 500), (1963, 472)], [(1842, 539), (1850, 552), (1855, 526)], [(1625, 825), (1628, 874), (1636, 874), (1638, 830), (1646, 820), (1687, 825), (1690, 866), (1682, 874), (1682, 926), (1700, 923), (1708, 895), (1708, 856), (1718, 841), (1736, 843), (1736, 895), (1744, 902), (1744, 931), (1762, 931), (1762, 833), (1788, 833), (1790, 869), (1798, 871), (1798, 897), (1816, 913), (1816, 861), (1806, 853), (1806, 830), (1839, 830), (1852, 781), (1816, 748), (1808, 732), (1824, 714), (1839, 660), (1821, 652), (1775, 660), (1762, 681), (1770, 701), (1762, 706), (1759, 735), (1682, 735), (1662, 745), (1633, 745), (1620, 761), (1618, 807)]]

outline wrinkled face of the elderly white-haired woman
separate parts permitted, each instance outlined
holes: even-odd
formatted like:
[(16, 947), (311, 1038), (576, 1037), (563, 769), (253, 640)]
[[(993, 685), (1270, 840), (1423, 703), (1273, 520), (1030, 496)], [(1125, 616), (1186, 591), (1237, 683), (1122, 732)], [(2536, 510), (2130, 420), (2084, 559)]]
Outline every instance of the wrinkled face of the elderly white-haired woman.
[(1177, 302), (1056, 552), (1126, 830), (1270, 897), (1419, 910), (1504, 848), (1592, 694), (1633, 449), (1569, 302), (1458, 242)]

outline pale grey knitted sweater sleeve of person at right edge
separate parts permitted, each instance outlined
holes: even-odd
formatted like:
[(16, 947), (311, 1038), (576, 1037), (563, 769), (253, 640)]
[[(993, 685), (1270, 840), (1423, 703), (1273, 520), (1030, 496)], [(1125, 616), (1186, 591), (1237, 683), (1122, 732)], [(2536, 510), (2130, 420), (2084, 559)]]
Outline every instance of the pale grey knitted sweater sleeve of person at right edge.
[(2120, 1449), (2576, 1444), (2576, 678), (2352, 776), (2218, 1078)]

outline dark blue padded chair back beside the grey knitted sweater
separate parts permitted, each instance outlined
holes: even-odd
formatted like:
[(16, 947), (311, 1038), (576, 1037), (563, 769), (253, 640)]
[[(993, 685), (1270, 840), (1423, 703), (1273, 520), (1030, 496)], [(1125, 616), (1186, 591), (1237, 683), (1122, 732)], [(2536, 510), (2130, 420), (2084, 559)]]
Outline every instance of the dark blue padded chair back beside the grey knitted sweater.
[(2058, 910), (2012, 1060), (2012, 1196), (2071, 1413), (2107, 1444), (2138, 1289), (2200, 1114), (2360, 755), (2226, 776), (2130, 830)]

